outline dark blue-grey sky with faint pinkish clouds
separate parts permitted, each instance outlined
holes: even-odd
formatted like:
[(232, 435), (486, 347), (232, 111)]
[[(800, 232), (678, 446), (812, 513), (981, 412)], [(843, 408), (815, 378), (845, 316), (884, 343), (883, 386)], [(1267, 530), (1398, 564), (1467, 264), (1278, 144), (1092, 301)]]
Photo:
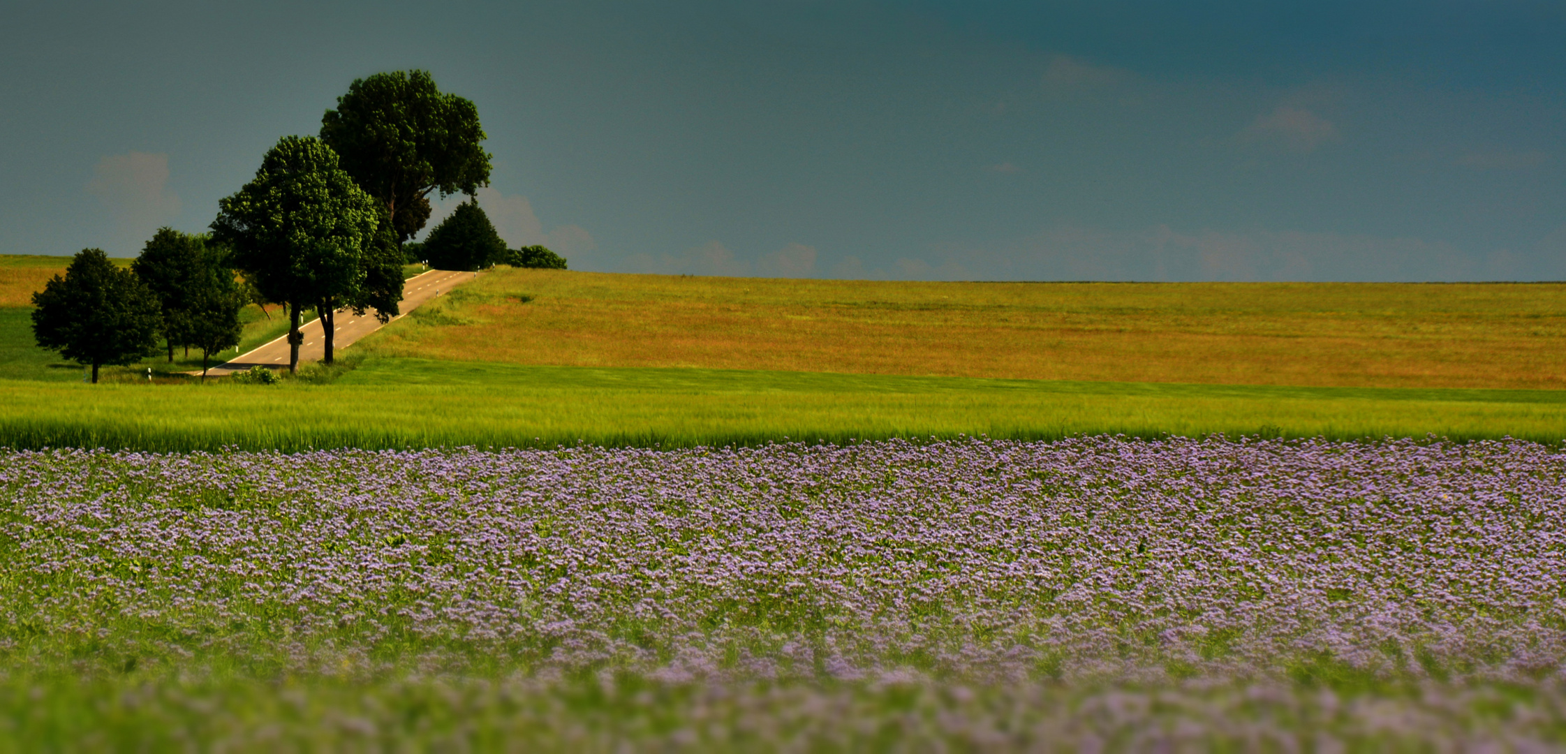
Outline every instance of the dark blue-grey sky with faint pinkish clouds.
[(1566, 0), (5, 16), (0, 254), (202, 232), (354, 78), (417, 67), (478, 105), (501, 237), (573, 270), (1566, 279)]

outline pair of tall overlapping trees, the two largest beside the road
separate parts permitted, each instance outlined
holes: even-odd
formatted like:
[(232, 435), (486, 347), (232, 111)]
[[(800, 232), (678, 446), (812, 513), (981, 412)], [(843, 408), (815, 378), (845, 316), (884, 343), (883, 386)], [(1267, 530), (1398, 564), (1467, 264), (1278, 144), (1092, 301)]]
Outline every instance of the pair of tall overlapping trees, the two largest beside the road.
[(429, 194), (473, 196), (490, 155), (478, 107), (442, 94), (424, 71), (355, 80), (319, 136), (285, 136), (255, 179), (218, 202), (213, 238), (262, 296), (288, 306), (288, 370), (299, 368), (299, 312), (312, 306), (334, 359), (335, 312), (402, 301), (401, 245), (429, 219)]

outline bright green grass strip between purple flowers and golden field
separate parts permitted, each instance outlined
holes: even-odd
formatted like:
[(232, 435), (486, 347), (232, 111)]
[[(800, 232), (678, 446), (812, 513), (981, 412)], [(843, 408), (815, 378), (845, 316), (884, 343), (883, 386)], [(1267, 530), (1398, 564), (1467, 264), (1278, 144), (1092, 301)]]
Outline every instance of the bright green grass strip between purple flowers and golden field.
[(0, 445), (722, 445), (960, 434), (1566, 437), (1566, 393), (521, 367), (366, 356), (327, 384), (0, 381)]

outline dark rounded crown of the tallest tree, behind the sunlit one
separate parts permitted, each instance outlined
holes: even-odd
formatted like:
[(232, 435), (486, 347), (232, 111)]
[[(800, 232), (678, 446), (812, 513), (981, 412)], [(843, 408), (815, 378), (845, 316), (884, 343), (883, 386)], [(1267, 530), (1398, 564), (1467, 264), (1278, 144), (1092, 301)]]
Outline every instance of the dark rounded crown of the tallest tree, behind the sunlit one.
[(490, 155), (473, 102), (442, 94), (428, 71), (357, 78), (321, 118), (321, 141), (385, 207), (398, 241), (429, 219), (429, 193), (471, 194), (489, 185)]

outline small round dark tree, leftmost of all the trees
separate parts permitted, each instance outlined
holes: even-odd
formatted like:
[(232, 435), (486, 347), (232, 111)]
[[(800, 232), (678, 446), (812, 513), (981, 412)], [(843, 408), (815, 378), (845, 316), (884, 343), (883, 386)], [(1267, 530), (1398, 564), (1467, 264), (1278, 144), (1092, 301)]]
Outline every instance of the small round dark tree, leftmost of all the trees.
[(81, 249), (66, 276), (33, 293), (38, 345), (77, 364), (132, 364), (157, 350), (158, 296), (130, 270), (116, 268), (102, 249)]

